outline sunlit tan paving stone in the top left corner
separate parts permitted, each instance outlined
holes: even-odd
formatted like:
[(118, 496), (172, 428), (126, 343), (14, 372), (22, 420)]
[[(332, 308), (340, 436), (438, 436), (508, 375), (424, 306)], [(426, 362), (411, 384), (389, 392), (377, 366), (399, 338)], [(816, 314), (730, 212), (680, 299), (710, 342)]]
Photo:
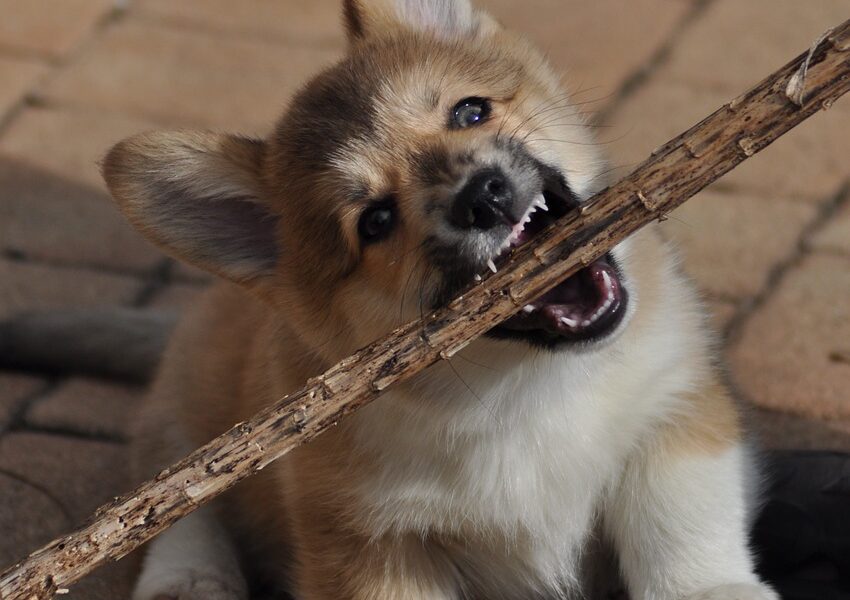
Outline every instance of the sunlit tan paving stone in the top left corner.
[(0, 0), (0, 47), (60, 57), (79, 46), (114, 0)]

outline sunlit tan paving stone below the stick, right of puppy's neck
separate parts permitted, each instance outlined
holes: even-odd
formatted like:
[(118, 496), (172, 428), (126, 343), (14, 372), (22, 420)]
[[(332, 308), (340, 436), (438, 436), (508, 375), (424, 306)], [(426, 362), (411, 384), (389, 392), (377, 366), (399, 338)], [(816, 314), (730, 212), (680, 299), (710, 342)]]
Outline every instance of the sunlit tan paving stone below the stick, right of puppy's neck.
[(663, 230), (703, 289), (742, 298), (760, 291), (771, 269), (795, 252), (815, 212), (803, 203), (706, 191), (676, 209)]

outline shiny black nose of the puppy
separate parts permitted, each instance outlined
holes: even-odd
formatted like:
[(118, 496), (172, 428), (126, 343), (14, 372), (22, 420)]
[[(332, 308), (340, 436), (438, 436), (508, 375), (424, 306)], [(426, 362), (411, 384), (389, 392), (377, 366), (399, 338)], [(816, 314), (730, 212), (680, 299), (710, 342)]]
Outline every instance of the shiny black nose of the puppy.
[(513, 188), (496, 169), (473, 175), (458, 192), (450, 220), (461, 229), (491, 229), (499, 223), (513, 223)]

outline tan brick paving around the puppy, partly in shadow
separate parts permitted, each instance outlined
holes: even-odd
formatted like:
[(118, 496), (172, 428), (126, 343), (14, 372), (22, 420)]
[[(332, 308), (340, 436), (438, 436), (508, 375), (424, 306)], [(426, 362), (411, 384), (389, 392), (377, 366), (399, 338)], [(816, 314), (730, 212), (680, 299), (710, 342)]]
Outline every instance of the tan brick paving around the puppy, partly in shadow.
[[(120, 6), (117, 6), (120, 4)], [(850, 15), (846, 0), (489, 0), (611, 128), (625, 172)], [(151, 127), (262, 134), (338, 56), (337, 2), (0, 0), (0, 318), (181, 307), (204, 284), (113, 210), (97, 160)], [(765, 444), (850, 448), (850, 99), (671, 218)], [(126, 485), (141, 390), (0, 374), (0, 564)], [(72, 597), (124, 597), (129, 567)]]

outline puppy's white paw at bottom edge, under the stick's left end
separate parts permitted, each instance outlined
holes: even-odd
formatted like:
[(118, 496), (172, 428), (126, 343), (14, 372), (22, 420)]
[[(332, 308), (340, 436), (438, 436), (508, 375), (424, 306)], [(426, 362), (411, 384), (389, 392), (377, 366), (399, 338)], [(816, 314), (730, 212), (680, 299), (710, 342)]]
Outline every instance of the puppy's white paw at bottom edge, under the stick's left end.
[(247, 600), (243, 582), (194, 571), (178, 571), (157, 578), (139, 581), (133, 600)]

